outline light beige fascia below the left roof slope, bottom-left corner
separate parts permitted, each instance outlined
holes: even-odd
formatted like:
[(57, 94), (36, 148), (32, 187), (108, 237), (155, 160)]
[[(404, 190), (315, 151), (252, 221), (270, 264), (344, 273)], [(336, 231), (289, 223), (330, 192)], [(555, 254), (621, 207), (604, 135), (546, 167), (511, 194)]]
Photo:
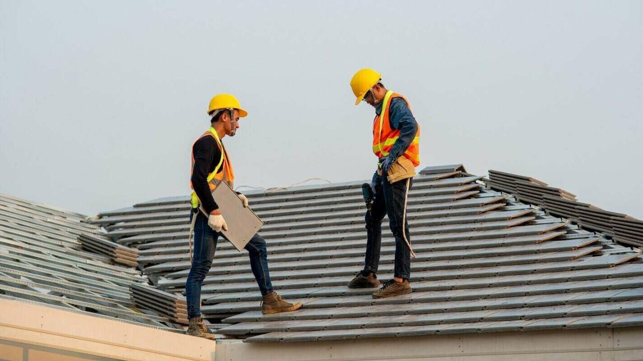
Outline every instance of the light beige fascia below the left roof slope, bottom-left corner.
[(214, 360), (215, 342), (0, 299), (0, 360)]

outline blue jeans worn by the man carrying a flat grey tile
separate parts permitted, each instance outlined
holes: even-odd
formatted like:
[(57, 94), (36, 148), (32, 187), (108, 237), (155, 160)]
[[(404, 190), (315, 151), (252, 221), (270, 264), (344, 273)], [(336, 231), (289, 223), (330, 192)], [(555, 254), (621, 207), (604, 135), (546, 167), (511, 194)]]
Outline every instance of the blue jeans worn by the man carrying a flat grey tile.
[[(192, 216), (194, 213), (190, 213), (190, 220)], [(201, 285), (210, 271), (214, 252), (217, 249), (217, 240), (219, 240), (219, 233), (210, 228), (208, 218), (200, 212), (196, 217), (192, 267), (185, 283), (188, 318), (201, 317)], [(250, 256), (250, 268), (257, 279), (259, 290), (262, 295), (266, 295), (274, 289), (268, 271), (266, 241), (257, 233), (246, 245), (246, 250)]]

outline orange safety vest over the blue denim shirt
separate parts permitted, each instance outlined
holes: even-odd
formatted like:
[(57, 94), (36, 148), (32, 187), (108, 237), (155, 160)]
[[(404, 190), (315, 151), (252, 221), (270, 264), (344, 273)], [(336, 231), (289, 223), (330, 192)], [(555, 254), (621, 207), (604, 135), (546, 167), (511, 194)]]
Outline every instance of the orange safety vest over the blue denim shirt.
[[(388, 119), (388, 114), (390, 113), (391, 100), (393, 98), (402, 98), (406, 101), (406, 98), (401, 94), (397, 94), (393, 91), (386, 91), (386, 95), (382, 100), (382, 111), (379, 115), (375, 116), (373, 121), (373, 153), (377, 155), (378, 158), (384, 158), (391, 152), (395, 141), (400, 136), (399, 129), (392, 129), (391, 123)], [(406, 101), (408, 109), (411, 110), (411, 105)], [(404, 157), (407, 157), (412, 163), (413, 166), (420, 165), (420, 125), (417, 125), (417, 133), (415, 133), (415, 138), (411, 142), (411, 145), (408, 146), (404, 152)]]

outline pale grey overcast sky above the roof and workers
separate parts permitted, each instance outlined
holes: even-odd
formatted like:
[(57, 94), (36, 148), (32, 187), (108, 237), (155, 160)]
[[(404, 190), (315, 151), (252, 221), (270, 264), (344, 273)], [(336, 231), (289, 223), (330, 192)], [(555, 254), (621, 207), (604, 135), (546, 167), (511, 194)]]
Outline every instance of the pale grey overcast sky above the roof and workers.
[(643, 218), (642, 1), (0, 0), (0, 193), (95, 215), (189, 193), (219, 92), (236, 185), (369, 179), (373, 67), (420, 168), (529, 175)]

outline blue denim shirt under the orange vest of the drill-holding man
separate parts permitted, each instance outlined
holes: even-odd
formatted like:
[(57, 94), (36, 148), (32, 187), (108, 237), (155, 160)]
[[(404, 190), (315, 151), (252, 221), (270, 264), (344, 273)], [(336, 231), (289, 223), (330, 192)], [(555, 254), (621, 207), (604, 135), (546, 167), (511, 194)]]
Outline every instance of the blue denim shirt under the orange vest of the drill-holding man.
[[(382, 103), (383, 101), (377, 105), (375, 114), (379, 115), (382, 112)], [(388, 121), (392, 129), (400, 130), (400, 136), (397, 138), (397, 141), (395, 141), (388, 155), (392, 157), (392, 161), (395, 161), (406, 152), (408, 146), (410, 146), (413, 139), (415, 139), (417, 121), (415, 121), (411, 110), (408, 109), (408, 105), (406, 105), (406, 101), (404, 101), (403, 98), (393, 98), (391, 100)]]

